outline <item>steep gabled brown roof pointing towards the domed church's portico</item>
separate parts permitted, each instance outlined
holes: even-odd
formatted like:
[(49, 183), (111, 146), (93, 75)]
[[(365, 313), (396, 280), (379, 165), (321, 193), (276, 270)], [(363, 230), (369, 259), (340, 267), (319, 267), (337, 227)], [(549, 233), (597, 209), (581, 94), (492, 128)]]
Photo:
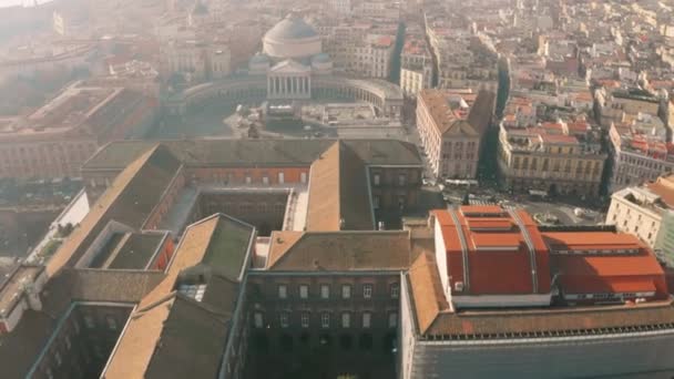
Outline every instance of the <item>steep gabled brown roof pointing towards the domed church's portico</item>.
[(312, 165), (306, 229), (375, 229), (365, 163), (335, 142)]

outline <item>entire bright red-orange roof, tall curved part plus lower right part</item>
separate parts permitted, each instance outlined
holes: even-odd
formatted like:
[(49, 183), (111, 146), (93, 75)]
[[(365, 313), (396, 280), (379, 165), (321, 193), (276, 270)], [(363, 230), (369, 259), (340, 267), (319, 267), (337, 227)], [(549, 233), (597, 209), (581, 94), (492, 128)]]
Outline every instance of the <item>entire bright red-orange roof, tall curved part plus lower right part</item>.
[[(541, 233), (525, 211), (513, 216), (498, 206), (466, 206), (432, 215), (447, 254), (447, 267), (440, 269), (447, 269), (453, 296), (548, 294), (551, 272), (570, 294), (655, 293), (657, 298), (667, 294), (654, 254), (632, 235)], [(458, 281), (463, 283), (462, 291), (456, 289)]]

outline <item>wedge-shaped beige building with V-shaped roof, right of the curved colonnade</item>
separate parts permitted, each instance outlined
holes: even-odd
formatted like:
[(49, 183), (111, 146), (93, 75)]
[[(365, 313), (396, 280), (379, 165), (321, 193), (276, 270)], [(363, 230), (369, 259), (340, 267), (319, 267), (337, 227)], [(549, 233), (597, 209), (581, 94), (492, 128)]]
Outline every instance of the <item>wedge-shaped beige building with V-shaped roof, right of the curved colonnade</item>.
[(417, 98), (417, 127), (435, 175), (474, 178), (480, 147), (494, 106), (481, 91), (422, 90)]

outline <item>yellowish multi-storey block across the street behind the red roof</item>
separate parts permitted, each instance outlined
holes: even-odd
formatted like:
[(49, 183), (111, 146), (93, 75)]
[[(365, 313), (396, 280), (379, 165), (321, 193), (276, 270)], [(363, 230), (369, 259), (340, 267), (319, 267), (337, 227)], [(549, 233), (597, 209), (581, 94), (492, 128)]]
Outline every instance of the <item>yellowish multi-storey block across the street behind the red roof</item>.
[(562, 120), (555, 112), (558, 117), (547, 121), (550, 107), (537, 105), (512, 98), (506, 107), (499, 131), (501, 183), (517, 192), (598, 196), (607, 156), (600, 130), (583, 114)]

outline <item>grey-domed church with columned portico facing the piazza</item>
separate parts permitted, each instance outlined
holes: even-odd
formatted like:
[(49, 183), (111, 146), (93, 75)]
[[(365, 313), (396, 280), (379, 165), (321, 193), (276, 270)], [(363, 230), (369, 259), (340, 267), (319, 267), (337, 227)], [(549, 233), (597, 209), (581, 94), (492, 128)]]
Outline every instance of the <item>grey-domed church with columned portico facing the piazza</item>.
[(263, 38), (263, 52), (251, 59), (248, 73), (267, 75), (267, 99), (312, 99), (312, 75), (330, 74), (333, 61), (320, 37), (302, 17), (288, 14)]

